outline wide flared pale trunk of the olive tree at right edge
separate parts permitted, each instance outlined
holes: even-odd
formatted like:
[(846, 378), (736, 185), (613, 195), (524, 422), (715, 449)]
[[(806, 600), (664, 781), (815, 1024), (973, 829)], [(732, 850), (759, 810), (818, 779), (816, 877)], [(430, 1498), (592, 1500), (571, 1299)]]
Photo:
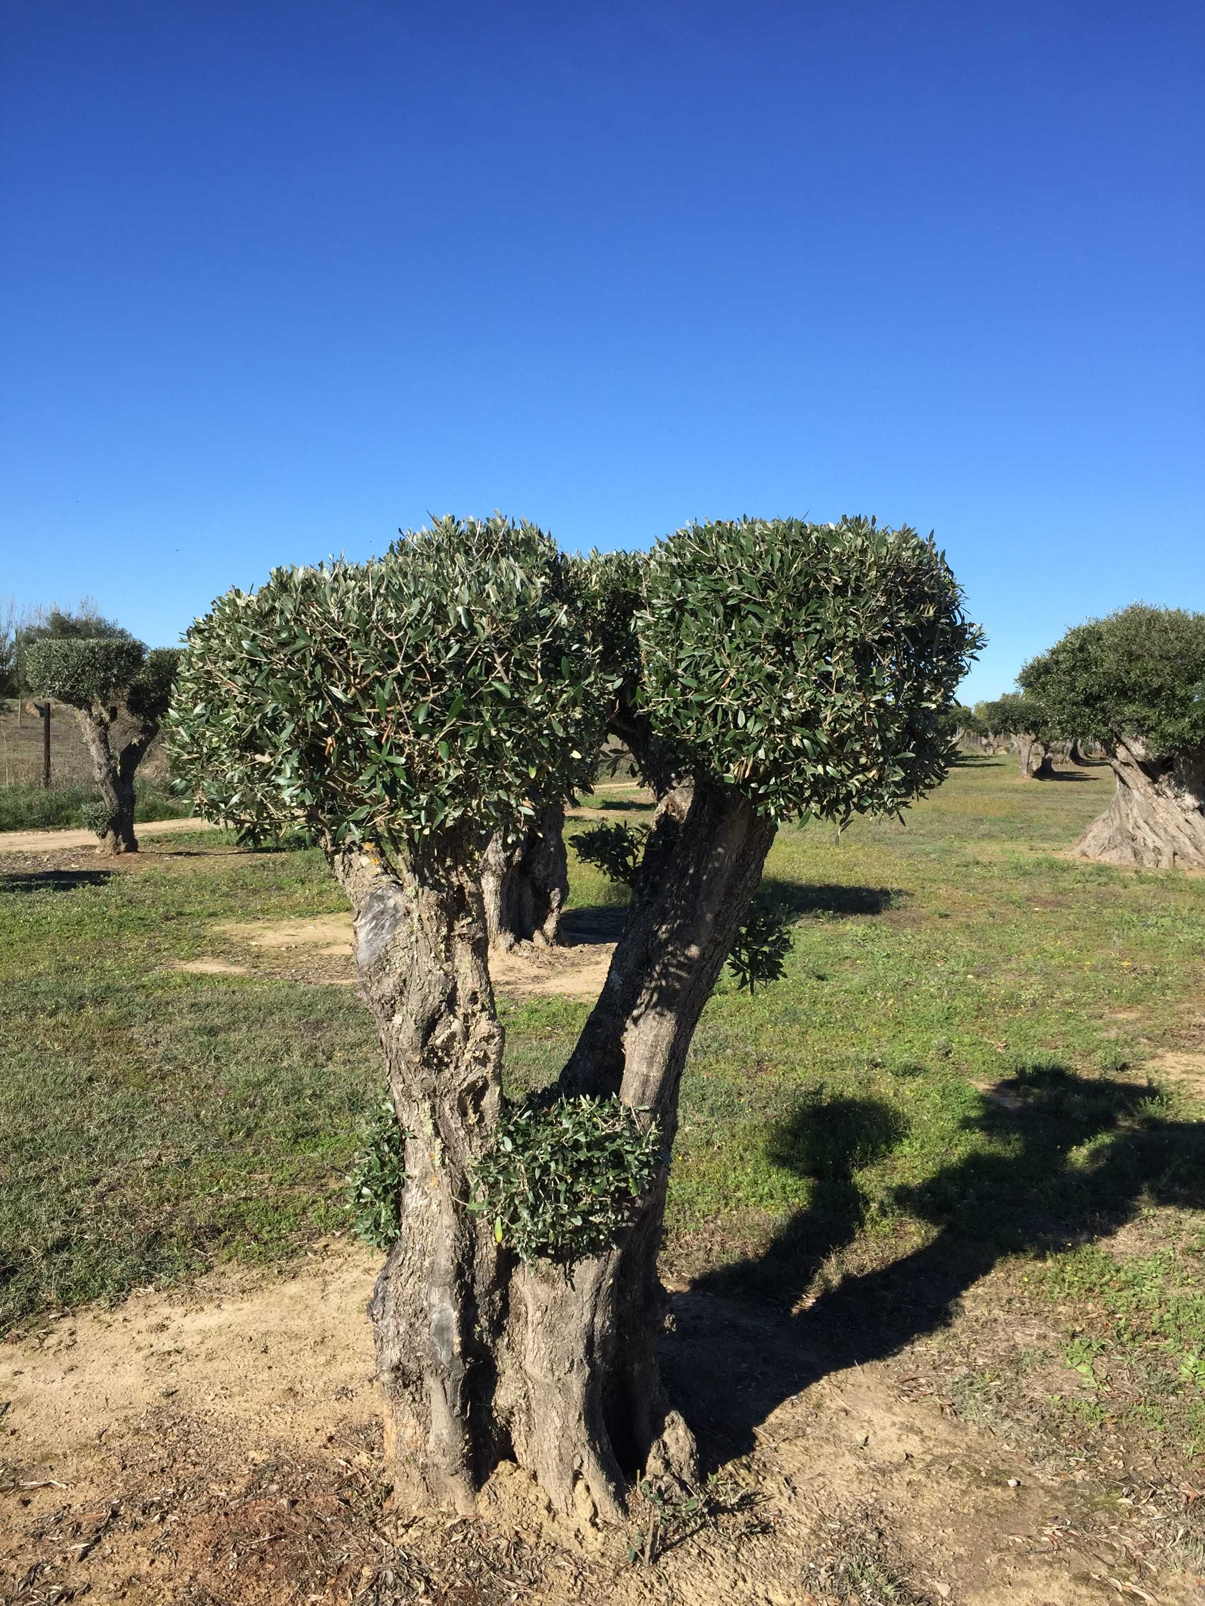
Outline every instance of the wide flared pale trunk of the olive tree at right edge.
[(1129, 737), (1109, 763), (1113, 800), (1070, 851), (1102, 864), (1205, 870), (1205, 752), (1158, 758)]

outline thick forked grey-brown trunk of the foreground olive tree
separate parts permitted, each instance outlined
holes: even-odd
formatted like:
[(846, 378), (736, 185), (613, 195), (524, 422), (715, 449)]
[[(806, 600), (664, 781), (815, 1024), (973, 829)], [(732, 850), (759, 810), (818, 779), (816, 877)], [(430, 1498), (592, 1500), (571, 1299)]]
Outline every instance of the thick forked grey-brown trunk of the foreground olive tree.
[[(561, 1094), (619, 1094), (657, 1119), (668, 1150), (686, 1050), (773, 835), (733, 793), (662, 800)], [(333, 862), (408, 1134), (400, 1237), (370, 1307), (395, 1487), (468, 1511), (513, 1457), (561, 1511), (617, 1519), (641, 1469), (696, 1476), (657, 1370), (665, 1171), (604, 1254), (522, 1264), (500, 1249), (464, 1209), (498, 1118), (503, 1046), (472, 854), (400, 870), (371, 851)]]

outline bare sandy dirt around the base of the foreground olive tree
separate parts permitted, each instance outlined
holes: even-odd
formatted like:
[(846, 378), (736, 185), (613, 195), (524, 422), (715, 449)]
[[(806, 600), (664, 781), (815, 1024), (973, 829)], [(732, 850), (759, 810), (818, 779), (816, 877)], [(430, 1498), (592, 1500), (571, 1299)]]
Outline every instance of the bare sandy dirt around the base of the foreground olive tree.
[[(376, 1261), (337, 1241), (278, 1274), (50, 1322), (0, 1346), (0, 1600), (182, 1606), (1089, 1606), (1200, 1601), (1134, 1574), (1117, 1505), (909, 1399), (826, 1370), (762, 1307), (675, 1296), (667, 1376), (723, 1450), (705, 1521), (554, 1519), (501, 1468), (479, 1518), (390, 1513), (365, 1319)], [(774, 1373), (810, 1375), (762, 1420)], [(647, 1545), (649, 1561), (644, 1563)], [(635, 1559), (633, 1559), (635, 1555)], [(1141, 1575), (1142, 1582), (1129, 1582)]]

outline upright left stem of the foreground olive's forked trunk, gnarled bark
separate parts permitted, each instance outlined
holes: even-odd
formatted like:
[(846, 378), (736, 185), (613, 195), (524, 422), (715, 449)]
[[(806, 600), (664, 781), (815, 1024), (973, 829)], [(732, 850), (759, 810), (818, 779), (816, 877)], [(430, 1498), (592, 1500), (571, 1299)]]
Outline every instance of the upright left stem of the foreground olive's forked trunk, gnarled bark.
[(501, 1099), (480, 890), (472, 853), (455, 845), (416, 867), (374, 850), (333, 851), (331, 864), (406, 1134), (400, 1233), (370, 1304), (395, 1487), (406, 1503), (469, 1511), (496, 1450), (492, 1341), (504, 1306), (493, 1238), (463, 1208)]

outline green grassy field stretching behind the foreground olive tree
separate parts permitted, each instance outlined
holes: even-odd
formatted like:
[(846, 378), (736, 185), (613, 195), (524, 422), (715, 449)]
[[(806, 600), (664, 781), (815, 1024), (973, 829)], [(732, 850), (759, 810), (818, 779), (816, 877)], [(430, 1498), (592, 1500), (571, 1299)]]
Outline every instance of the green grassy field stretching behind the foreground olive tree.
[[(707, 1007), (665, 1270), (903, 1355), (993, 1431), (1181, 1463), (1205, 1455), (1205, 880), (1060, 856), (1109, 787), (970, 760), (906, 827), (779, 835), (787, 976)], [(174, 968), (223, 920), (336, 912), (337, 888), (312, 851), (217, 832), (140, 858), (0, 859), (6, 1325), (345, 1225), (381, 1084), (355, 996)], [(575, 869), (575, 907), (617, 896)], [(585, 1013), (504, 1009), (513, 1090)]]

